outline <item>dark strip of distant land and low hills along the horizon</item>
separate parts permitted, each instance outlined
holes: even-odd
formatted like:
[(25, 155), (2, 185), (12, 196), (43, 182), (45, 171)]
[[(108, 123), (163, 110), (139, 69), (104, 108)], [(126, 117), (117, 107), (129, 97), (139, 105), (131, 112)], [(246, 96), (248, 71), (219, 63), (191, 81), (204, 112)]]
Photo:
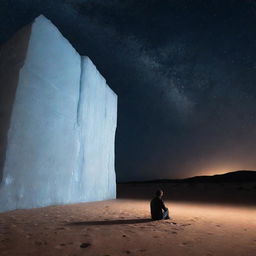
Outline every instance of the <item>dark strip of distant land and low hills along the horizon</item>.
[(256, 171), (236, 171), (177, 180), (120, 183), (118, 198), (150, 199), (162, 188), (166, 200), (256, 205)]

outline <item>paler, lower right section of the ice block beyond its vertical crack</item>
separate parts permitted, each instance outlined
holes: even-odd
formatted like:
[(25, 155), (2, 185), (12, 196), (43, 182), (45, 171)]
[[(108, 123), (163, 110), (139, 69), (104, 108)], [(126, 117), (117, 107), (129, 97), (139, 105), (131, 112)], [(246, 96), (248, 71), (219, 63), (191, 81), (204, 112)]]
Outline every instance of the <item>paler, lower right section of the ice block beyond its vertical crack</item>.
[(88, 57), (82, 58), (81, 85), (82, 107), (79, 109), (78, 124), (81, 127), (82, 138), (80, 148), (83, 149), (80, 158), (83, 166), (83, 185), (87, 197), (92, 200), (114, 198), (117, 96)]

